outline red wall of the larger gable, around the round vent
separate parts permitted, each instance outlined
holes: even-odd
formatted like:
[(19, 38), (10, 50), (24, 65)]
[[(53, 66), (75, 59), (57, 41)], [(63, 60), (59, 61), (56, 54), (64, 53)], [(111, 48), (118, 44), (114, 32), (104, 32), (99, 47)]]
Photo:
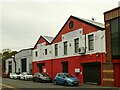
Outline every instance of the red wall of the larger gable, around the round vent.
[[(70, 21), (74, 22), (74, 27), (72, 29), (69, 28), (69, 22)], [(97, 28), (95, 28), (91, 25), (88, 25), (88, 24), (80, 22), (76, 19), (70, 18), (70, 20), (67, 22), (67, 24), (64, 26), (64, 28), (59, 32), (57, 37), (54, 39), (53, 43), (60, 42), (62, 40), (62, 35), (63, 34), (66, 34), (66, 33), (71, 32), (71, 31), (75, 31), (79, 28), (83, 28), (83, 33), (84, 34), (94, 32), (94, 31), (97, 30)]]

